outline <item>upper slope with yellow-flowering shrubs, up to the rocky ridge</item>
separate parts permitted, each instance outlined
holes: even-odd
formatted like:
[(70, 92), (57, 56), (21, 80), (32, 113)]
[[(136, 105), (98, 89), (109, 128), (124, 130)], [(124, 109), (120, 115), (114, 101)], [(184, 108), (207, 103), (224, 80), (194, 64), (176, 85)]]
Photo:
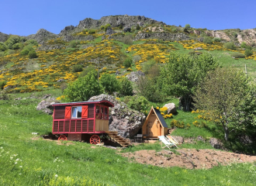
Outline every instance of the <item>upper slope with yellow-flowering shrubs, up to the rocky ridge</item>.
[[(15, 36), (1, 33), (1, 40), (5, 41), (2, 46), (7, 47), (2, 47), (0, 52), (0, 82), (4, 82), (9, 92), (60, 88), (59, 80), (70, 82), (78, 77), (79, 72), (72, 72), (72, 67), (77, 64), (83, 68), (92, 64), (97, 68), (99, 62), (101, 74), (113, 74), (118, 70), (125, 76), (130, 71), (141, 70), (148, 60), (164, 63), (171, 51), (190, 53), (198, 47), (202, 48), (200, 52), (212, 53), (223, 66), (244, 69), (247, 64), (248, 73), (254, 77), (254, 55), (239, 60), (230, 55), (244, 53), (244, 48), (240, 47), (242, 42), (254, 46), (255, 33), (255, 29), (207, 30), (168, 26), (144, 16), (129, 15), (84, 19), (78, 26), (66, 26), (58, 35), (40, 29), (36, 34), (16, 36), (18, 39), (14, 40)], [(204, 42), (205, 38), (220, 39)], [(33, 40), (39, 43), (33, 45), (37, 57), (29, 58), (21, 52)], [(223, 43), (230, 41), (236, 47), (223, 47)], [(129, 69), (123, 67), (127, 57), (133, 58)]]

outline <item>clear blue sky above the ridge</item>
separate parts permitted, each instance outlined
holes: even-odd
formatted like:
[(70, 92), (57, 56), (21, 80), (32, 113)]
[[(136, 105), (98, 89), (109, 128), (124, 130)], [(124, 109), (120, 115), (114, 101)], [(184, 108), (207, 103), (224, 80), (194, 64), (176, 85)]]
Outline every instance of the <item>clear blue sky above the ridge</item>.
[(253, 29), (255, 0), (1, 0), (0, 32), (28, 36), (38, 29), (60, 33), (85, 18), (144, 15), (168, 25), (207, 29)]

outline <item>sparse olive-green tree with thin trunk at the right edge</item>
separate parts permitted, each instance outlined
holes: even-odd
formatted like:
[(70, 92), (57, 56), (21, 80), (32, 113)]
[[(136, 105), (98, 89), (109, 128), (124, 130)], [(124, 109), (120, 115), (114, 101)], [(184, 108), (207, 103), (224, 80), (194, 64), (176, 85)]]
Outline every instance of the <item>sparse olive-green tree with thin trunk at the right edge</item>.
[(256, 94), (243, 72), (217, 68), (206, 76), (195, 91), (195, 107), (206, 110), (221, 126), (225, 140), (230, 132), (256, 125)]

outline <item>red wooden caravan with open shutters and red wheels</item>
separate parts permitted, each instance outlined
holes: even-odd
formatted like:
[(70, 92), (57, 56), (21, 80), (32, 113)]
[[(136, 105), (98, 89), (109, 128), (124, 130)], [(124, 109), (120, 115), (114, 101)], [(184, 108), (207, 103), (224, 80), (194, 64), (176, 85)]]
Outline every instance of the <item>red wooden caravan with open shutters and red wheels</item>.
[(53, 133), (59, 140), (79, 140), (93, 134), (90, 143), (100, 142), (100, 134), (109, 131), (109, 107), (107, 100), (91, 102), (68, 102), (54, 104)]

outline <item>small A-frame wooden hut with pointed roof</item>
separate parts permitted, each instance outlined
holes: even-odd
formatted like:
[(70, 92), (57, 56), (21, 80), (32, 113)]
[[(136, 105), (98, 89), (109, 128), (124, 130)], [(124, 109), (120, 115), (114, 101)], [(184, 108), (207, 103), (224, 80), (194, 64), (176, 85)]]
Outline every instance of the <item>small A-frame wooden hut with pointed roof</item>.
[(146, 139), (157, 138), (157, 136), (165, 136), (168, 134), (168, 126), (164, 121), (161, 112), (153, 106), (142, 126), (142, 134)]

